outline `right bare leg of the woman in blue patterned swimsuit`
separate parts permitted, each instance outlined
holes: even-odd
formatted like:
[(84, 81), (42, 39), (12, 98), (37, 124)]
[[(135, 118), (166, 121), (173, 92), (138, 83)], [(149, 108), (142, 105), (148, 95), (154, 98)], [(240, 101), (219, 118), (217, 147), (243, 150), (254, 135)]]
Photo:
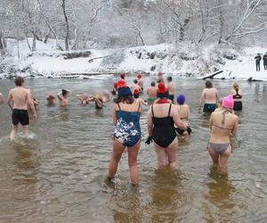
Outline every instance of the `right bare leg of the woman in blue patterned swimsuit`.
[(139, 152), (141, 141), (134, 146), (128, 147), (128, 165), (130, 169), (130, 178), (133, 186), (139, 184), (139, 173), (137, 166), (137, 154)]

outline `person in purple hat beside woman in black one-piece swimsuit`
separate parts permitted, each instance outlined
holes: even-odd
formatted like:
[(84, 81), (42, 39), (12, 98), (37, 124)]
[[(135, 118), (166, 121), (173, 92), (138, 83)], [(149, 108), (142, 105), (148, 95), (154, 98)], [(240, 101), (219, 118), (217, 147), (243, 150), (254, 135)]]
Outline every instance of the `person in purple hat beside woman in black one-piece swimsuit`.
[(186, 130), (179, 127), (175, 127), (176, 133), (180, 136), (189, 136), (192, 131), (192, 129), (188, 126), (188, 121), (190, 117), (190, 107), (188, 106), (188, 104), (185, 103), (184, 95), (178, 95), (176, 101), (177, 105), (175, 105), (175, 107), (179, 113), (180, 119), (187, 126)]

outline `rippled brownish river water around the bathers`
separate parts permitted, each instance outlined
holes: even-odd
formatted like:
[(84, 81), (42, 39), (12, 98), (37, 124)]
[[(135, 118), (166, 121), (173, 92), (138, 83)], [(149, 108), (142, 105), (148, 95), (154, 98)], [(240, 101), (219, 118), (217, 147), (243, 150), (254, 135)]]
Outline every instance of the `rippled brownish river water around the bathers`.
[[(131, 82), (130, 79), (127, 80)], [(240, 82), (244, 110), (233, 142), (229, 174), (211, 168), (206, 152), (208, 116), (198, 113), (204, 81), (175, 78), (176, 93), (190, 105), (190, 140), (179, 138), (178, 170), (158, 174), (156, 154), (147, 137), (144, 108), (140, 183), (129, 184), (127, 154), (119, 164), (116, 185), (105, 184), (114, 131), (107, 103), (96, 111), (82, 106), (75, 95), (110, 89), (106, 80), (27, 79), (41, 104), (28, 140), (8, 139), (11, 111), (0, 105), (0, 221), (1, 222), (266, 222), (267, 221), (267, 93), (263, 83)], [(145, 78), (145, 85), (150, 78)], [(214, 80), (221, 95), (231, 81)], [(0, 80), (7, 97), (12, 80)], [(45, 94), (69, 88), (67, 108), (45, 105)]]

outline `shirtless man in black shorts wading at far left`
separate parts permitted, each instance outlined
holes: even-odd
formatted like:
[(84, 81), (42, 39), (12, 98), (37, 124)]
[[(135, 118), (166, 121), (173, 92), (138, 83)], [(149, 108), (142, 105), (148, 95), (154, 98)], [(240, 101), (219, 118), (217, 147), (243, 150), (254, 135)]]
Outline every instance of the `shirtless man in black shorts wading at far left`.
[[(35, 120), (36, 109), (29, 95), (28, 89), (22, 87), (24, 83), (24, 78), (15, 78), (16, 87), (13, 88), (7, 97), (7, 104), (12, 110), (12, 132), (10, 134), (10, 139), (13, 140), (18, 131), (19, 123), (23, 126), (25, 136), (28, 137), (28, 105), (33, 112), (33, 119)], [(13, 103), (12, 103), (13, 102)]]

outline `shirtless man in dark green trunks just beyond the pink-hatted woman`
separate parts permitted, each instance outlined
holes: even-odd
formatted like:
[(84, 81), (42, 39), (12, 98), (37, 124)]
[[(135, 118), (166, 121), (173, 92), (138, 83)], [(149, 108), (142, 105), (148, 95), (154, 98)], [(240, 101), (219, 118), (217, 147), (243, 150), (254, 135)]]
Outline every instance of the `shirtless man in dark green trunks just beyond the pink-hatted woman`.
[(206, 88), (203, 90), (200, 100), (199, 100), (199, 111), (201, 111), (202, 103), (204, 102), (204, 112), (213, 112), (217, 105), (219, 95), (218, 90), (213, 87), (213, 84), (211, 81), (206, 81)]

